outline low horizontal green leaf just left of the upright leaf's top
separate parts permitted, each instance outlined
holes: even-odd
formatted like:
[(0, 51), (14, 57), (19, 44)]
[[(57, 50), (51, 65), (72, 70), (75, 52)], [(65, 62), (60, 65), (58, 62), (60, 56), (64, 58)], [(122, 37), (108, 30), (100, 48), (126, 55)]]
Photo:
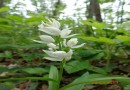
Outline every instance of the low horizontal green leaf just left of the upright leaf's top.
[(29, 74), (43, 74), (43, 73), (47, 73), (48, 70), (45, 69), (45, 68), (38, 68), (38, 67), (35, 67), (35, 68), (24, 68), (22, 69), (22, 71), (26, 72), (26, 73), (29, 73)]

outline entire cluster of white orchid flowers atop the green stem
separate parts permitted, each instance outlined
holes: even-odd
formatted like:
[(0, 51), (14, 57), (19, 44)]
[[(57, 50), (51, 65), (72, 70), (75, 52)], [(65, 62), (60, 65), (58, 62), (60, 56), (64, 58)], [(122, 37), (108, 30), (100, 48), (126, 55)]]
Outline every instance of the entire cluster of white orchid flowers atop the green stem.
[(49, 23), (41, 22), (38, 29), (44, 32), (44, 35), (40, 35), (41, 41), (33, 40), (38, 43), (43, 43), (48, 46), (48, 50), (43, 50), (48, 57), (44, 57), (51, 61), (70, 60), (73, 54), (73, 48), (79, 48), (84, 46), (85, 43), (77, 45), (78, 39), (71, 38), (77, 34), (71, 34), (72, 30), (65, 28), (60, 29), (60, 23), (51, 19)]

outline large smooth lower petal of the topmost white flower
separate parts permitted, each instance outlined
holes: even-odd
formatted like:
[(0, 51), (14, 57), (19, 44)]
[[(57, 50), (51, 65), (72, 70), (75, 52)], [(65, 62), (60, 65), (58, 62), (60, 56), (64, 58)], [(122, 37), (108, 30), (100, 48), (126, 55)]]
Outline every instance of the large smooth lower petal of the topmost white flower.
[(50, 35), (54, 35), (54, 36), (60, 35), (60, 32), (61, 32), (58, 28), (55, 28), (55, 27), (44, 27), (41, 31)]

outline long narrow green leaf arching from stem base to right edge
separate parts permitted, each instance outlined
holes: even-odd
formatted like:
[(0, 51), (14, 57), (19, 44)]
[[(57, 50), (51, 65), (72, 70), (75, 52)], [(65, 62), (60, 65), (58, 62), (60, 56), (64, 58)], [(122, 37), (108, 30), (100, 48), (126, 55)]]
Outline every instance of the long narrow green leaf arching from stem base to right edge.
[[(68, 88), (71, 88), (72, 86), (77, 86), (80, 84), (112, 84), (114, 83), (113, 80), (118, 80), (121, 84), (125, 83), (126, 85), (130, 83), (130, 78), (123, 77), (123, 76), (104, 76), (101, 74), (90, 74), (87, 79), (84, 79), (82, 81), (71, 83), (69, 85), (66, 85), (62, 87), (60, 90), (67, 90)], [(75, 89), (76, 90), (76, 89)]]

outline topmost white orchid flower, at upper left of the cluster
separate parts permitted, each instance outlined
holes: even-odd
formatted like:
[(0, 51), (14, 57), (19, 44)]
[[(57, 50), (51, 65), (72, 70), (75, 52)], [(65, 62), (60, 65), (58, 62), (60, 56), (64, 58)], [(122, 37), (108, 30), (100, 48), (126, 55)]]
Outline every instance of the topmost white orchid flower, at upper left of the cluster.
[(50, 24), (46, 24), (44, 22), (42, 22), (38, 27), (39, 30), (47, 33), (49, 35), (53, 35), (53, 36), (58, 36), (60, 35), (61, 31), (60, 31), (60, 23), (58, 21), (56, 21), (55, 19), (52, 19), (52, 22), (49, 20)]

